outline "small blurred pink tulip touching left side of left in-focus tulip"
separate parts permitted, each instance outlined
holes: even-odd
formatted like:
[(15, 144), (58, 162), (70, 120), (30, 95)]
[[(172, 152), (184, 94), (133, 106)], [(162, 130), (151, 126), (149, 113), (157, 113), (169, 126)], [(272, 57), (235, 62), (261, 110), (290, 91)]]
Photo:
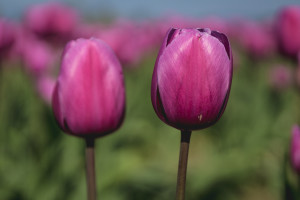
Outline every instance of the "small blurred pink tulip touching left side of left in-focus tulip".
[(36, 86), (43, 100), (45, 100), (48, 104), (51, 104), (55, 79), (49, 76), (41, 76), (37, 80)]

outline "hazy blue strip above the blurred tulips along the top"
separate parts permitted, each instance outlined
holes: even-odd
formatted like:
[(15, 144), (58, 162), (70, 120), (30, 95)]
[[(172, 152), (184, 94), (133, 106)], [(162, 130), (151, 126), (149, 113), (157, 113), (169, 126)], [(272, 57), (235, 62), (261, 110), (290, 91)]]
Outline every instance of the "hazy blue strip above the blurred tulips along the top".
[[(32, 4), (49, 0), (0, 0), (0, 14), (20, 18)], [(120, 16), (143, 19), (177, 13), (183, 16), (262, 18), (272, 16), (284, 5), (297, 4), (299, 0), (60, 0), (81, 10), (85, 15)]]

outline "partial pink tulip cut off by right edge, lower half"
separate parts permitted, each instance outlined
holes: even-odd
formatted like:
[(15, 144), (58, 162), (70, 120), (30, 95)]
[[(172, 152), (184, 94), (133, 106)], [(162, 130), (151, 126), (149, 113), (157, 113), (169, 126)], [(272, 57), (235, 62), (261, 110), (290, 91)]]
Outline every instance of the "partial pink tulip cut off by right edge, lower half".
[(300, 174), (300, 128), (298, 125), (294, 125), (292, 128), (290, 159), (292, 167)]

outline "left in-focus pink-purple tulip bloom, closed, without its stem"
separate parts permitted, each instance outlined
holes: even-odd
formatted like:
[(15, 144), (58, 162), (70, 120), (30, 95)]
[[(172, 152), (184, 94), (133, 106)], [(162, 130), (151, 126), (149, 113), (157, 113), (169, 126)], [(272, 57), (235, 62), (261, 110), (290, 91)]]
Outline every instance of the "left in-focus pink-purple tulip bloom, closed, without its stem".
[(98, 137), (116, 130), (124, 118), (125, 89), (111, 48), (94, 38), (69, 42), (52, 104), (56, 120), (69, 134)]

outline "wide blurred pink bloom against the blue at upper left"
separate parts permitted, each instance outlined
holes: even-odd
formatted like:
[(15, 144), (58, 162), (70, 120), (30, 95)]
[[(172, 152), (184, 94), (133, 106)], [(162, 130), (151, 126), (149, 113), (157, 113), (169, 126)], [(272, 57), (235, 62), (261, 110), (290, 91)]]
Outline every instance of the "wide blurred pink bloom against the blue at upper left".
[(51, 2), (30, 7), (25, 13), (25, 24), (42, 37), (69, 39), (78, 23), (78, 14), (72, 8)]

